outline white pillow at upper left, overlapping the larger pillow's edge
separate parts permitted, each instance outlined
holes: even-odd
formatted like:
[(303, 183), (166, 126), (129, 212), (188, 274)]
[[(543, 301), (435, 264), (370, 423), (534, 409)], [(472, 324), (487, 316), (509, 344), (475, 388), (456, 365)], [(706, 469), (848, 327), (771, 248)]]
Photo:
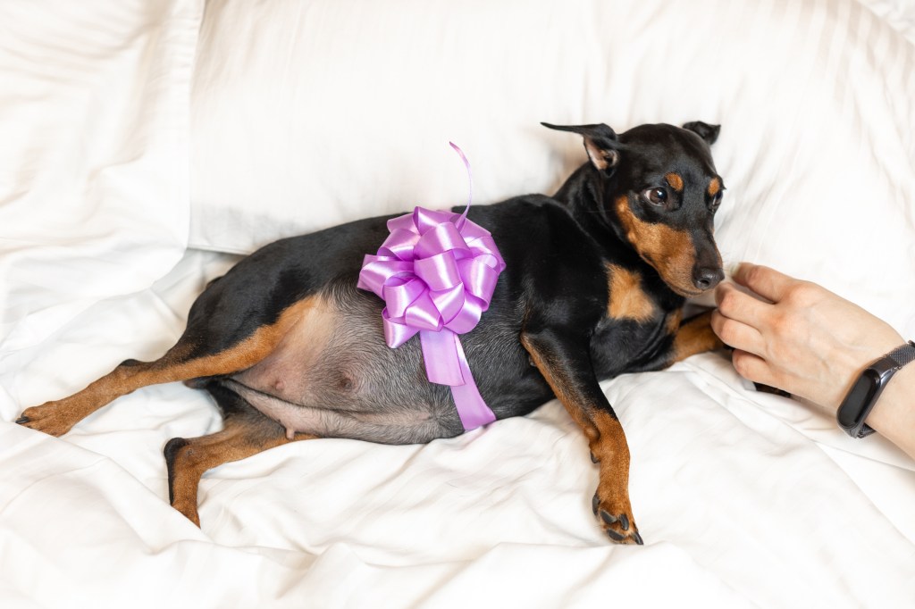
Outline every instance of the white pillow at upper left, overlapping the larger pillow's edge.
[(202, 14), (199, 0), (0, 5), (3, 350), (180, 259)]

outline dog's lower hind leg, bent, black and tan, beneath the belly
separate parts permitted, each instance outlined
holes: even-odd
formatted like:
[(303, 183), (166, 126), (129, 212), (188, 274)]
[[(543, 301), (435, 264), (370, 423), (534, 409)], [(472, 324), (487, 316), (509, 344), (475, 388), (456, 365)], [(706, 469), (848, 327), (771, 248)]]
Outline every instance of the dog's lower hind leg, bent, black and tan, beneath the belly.
[(274, 446), (317, 437), (296, 433), (295, 438), (289, 440), (282, 425), (255, 410), (219, 381), (206, 383), (205, 389), (210, 391), (223, 412), (225, 425), (222, 431), (199, 438), (173, 438), (164, 451), (168, 468), (168, 501), (198, 527), (197, 489), (204, 472)]

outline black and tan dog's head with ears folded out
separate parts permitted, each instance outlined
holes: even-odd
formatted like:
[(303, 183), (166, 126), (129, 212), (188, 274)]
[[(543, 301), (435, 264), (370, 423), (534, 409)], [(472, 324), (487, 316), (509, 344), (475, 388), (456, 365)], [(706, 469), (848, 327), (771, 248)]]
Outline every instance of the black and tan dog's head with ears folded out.
[(709, 150), (718, 125), (643, 124), (619, 135), (606, 124), (544, 125), (584, 136), (602, 185), (595, 211), (674, 292), (694, 296), (724, 279), (713, 232), (725, 185)]

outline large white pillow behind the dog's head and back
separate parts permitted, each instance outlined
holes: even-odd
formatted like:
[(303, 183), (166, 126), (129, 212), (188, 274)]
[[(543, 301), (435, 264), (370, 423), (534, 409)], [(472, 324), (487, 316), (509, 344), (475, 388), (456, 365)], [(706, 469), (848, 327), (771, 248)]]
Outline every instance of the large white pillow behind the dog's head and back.
[(191, 244), (553, 192), (551, 123), (721, 123), (726, 262), (769, 263), (915, 337), (915, 51), (855, 0), (210, 3)]

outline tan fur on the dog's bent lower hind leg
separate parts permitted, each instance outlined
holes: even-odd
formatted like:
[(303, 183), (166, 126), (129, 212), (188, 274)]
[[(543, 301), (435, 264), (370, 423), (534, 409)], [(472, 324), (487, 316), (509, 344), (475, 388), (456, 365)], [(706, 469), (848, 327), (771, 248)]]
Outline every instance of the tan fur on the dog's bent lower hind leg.
[[(277, 428), (275, 433), (264, 435), (263, 431), (250, 425), (228, 419), (221, 432), (189, 440), (176, 438), (166, 445), (171, 505), (199, 527), (197, 490), (204, 472), (217, 465), (240, 461), (274, 446), (313, 440), (316, 437), (307, 433), (296, 433), (295, 438), (289, 440), (280, 428)], [(170, 448), (171, 446), (174, 448)]]

